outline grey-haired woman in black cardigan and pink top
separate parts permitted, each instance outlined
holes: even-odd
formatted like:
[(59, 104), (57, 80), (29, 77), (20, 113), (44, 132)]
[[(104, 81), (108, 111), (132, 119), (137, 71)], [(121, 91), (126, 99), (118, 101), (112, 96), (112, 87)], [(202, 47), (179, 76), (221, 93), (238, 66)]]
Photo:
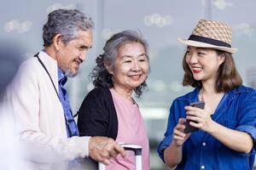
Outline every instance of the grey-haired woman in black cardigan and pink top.
[[(143, 146), (143, 170), (149, 169), (149, 147), (143, 117), (132, 98), (146, 88), (148, 45), (136, 31), (121, 31), (106, 42), (90, 74), (95, 88), (85, 97), (80, 109), (80, 135), (107, 136), (118, 143)], [(117, 156), (107, 169), (135, 169), (134, 154)]]

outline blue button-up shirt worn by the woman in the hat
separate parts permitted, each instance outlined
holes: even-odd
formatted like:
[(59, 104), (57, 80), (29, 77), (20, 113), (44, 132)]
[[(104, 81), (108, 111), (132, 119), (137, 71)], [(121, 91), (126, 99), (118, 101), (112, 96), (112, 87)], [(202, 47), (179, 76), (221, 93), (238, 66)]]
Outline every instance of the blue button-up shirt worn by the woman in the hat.
[[(172, 131), (180, 117), (186, 117), (184, 106), (198, 101), (199, 89), (175, 99), (170, 109), (165, 138), (158, 146), (158, 153), (164, 160), (164, 150), (172, 143)], [(256, 92), (240, 86), (224, 94), (212, 120), (224, 127), (250, 134), (256, 139)], [(255, 144), (249, 154), (230, 150), (204, 131), (191, 133), (183, 144), (183, 159), (176, 169), (224, 169), (246, 170), (253, 168)]]

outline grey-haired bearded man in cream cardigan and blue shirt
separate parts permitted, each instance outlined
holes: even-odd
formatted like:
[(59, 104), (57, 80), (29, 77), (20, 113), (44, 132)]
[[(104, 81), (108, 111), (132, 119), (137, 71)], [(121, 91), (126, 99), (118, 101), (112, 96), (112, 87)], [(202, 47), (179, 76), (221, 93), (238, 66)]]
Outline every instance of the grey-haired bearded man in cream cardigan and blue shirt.
[(67, 77), (78, 74), (92, 46), (93, 22), (78, 10), (51, 12), (43, 28), (44, 49), (20, 65), (7, 90), (26, 165), (67, 169), (79, 157), (109, 163), (125, 150), (106, 137), (79, 137), (67, 91)]

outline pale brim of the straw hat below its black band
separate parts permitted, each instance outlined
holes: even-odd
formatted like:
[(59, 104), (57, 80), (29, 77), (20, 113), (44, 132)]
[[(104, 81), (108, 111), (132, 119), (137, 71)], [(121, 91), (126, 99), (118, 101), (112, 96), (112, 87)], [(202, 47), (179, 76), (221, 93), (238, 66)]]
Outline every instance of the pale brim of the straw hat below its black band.
[(219, 49), (219, 50), (228, 52), (228, 53), (230, 53), (230, 54), (235, 54), (236, 51), (237, 51), (237, 48), (219, 47), (219, 46), (212, 45), (212, 44), (205, 43), (205, 42), (197, 42), (197, 41), (194, 41), (194, 40), (186, 40), (186, 39), (183, 39), (183, 38), (180, 38), (180, 37), (177, 38), (177, 41), (182, 42), (182, 43), (184, 43), (184, 44), (186, 44), (186, 45), (193, 46), (193, 47), (198, 47), (198, 48), (213, 48), (213, 49)]

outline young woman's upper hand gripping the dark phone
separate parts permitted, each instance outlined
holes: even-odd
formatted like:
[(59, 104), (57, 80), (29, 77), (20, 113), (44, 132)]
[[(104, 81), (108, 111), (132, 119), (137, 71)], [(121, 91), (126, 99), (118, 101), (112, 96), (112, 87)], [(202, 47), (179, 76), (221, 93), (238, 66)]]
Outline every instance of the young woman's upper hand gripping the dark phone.
[(212, 127), (212, 117), (211, 115), (204, 109), (200, 109), (193, 106), (185, 106), (185, 110), (187, 113), (186, 118), (191, 121), (189, 125), (192, 127), (198, 127), (205, 132), (211, 132)]

